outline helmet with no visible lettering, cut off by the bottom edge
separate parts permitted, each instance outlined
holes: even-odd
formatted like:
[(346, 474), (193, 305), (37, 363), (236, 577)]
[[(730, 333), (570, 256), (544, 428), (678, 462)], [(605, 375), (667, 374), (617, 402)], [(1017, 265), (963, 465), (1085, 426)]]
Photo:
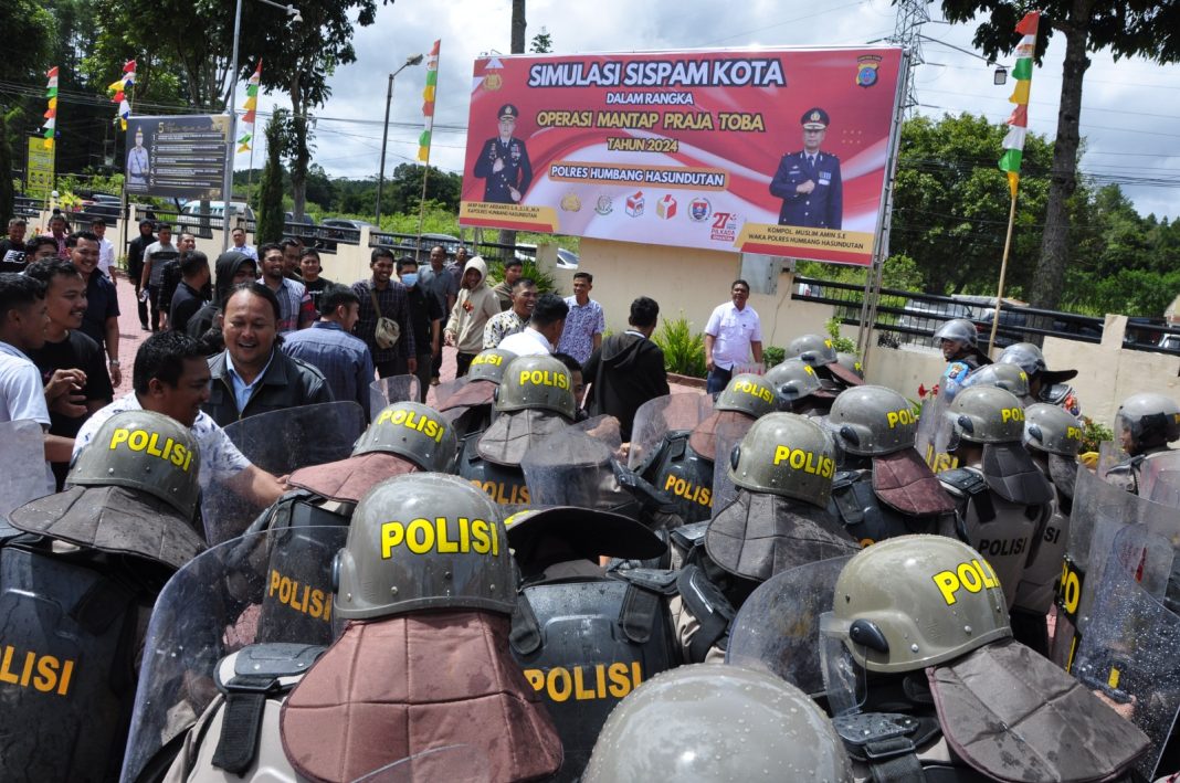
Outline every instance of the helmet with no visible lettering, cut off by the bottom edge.
[(827, 716), (802, 691), (743, 666), (693, 664), (653, 677), (603, 724), (585, 783), (853, 779)]

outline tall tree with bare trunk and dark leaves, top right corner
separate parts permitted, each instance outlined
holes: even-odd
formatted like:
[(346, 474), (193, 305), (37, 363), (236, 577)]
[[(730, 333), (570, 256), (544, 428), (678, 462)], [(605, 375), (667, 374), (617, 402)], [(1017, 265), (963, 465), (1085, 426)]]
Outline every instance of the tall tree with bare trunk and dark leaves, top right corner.
[[(1110, 50), (1116, 59), (1146, 57), (1156, 62), (1176, 61), (1180, 59), (1180, 37), (1175, 34), (1180, 29), (1180, 2), (1043, 0), (1038, 6), (1042, 15), (1037, 61), (1054, 33), (1066, 38), (1041, 255), (1029, 287), (1032, 304), (1054, 308), (1061, 300), (1071, 257), (1070, 202), (1077, 190), (1079, 125), (1082, 86), (1090, 66), (1088, 53)], [(1014, 32), (1016, 24), (1034, 6), (1025, 0), (943, 0), (942, 7), (952, 22), (982, 20), (975, 29), (975, 45), (988, 57), (997, 58), (1015, 50), (1020, 42)]]

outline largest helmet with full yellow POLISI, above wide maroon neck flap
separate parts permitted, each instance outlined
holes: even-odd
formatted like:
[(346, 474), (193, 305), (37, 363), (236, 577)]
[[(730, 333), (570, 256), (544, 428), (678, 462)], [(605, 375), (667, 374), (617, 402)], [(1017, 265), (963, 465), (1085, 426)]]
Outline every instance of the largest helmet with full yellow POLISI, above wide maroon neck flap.
[(332, 568), (345, 619), (421, 610), (511, 614), (512, 555), (500, 512), (468, 481), (439, 473), (386, 479), (356, 505)]

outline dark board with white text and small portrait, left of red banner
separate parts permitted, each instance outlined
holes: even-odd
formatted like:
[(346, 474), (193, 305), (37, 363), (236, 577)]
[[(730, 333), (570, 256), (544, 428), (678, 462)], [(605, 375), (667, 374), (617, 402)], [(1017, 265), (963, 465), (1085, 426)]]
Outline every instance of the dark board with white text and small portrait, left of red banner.
[(219, 198), (225, 177), (225, 114), (127, 119), (124, 182), (129, 193)]

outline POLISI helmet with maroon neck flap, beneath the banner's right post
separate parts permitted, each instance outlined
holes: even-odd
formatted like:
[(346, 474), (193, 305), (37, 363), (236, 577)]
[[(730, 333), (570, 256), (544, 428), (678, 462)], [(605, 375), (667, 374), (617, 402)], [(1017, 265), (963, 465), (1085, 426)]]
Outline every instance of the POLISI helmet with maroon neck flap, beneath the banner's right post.
[(857, 386), (841, 392), (832, 403), (827, 426), (850, 454), (883, 456), (913, 447), (918, 417), (893, 389)]

